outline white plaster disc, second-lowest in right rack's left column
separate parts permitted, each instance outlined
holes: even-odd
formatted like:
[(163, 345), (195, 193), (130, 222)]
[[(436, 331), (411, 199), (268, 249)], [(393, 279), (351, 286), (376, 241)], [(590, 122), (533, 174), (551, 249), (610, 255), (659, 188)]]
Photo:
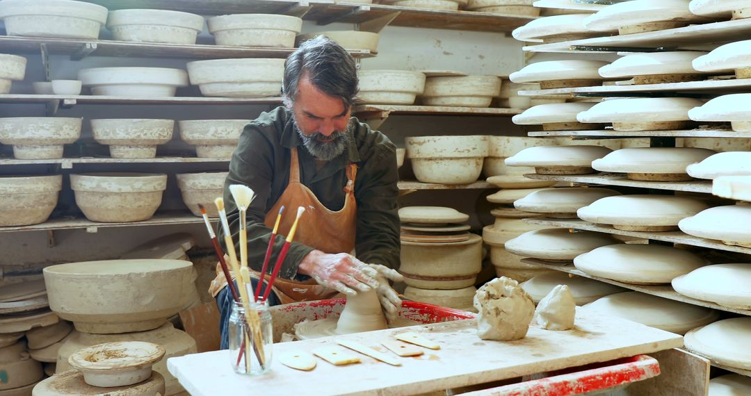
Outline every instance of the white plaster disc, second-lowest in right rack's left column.
[(569, 229), (555, 228), (523, 233), (506, 242), (504, 247), (506, 251), (522, 257), (574, 260), (574, 257), (594, 248), (620, 243), (608, 234), (591, 231), (571, 233)]

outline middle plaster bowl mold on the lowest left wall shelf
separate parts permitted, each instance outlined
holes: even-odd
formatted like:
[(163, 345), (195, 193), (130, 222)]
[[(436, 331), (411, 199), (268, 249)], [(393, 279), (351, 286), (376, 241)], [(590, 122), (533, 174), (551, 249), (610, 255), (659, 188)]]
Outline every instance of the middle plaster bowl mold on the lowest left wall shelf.
[(166, 188), (167, 175), (158, 173), (71, 175), (76, 205), (87, 219), (102, 223), (148, 220)]

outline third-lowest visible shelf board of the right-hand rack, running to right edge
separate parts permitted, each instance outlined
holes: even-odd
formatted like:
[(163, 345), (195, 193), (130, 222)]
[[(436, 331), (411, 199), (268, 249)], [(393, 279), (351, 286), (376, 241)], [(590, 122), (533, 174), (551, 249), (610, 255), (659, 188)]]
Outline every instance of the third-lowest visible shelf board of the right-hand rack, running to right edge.
[(596, 231), (598, 233), (622, 235), (622, 236), (634, 236), (641, 239), (653, 239), (655, 241), (672, 242), (683, 245), (698, 246), (701, 248), (716, 249), (718, 251), (731, 251), (743, 254), (751, 254), (751, 248), (742, 248), (740, 246), (725, 245), (722, 242), (716, 242), (711, 239), (698, 238), (697, 236), (689, 236), (688, 234), (681, 233), (680, 231), (668, 231), (665, 233), (644, 233), (639, 231), (623, 231), (622, 229), (614, 229), (613, 226), (605, 224), (589, 223), (584, 220), (559, 220), (549, 218), (533, 217), (524, 219), (524, 221), (539, 224), (541, 226), (550, 226), (557, 228), (571, 228), (571, 229), (585, 229), (587, 231)]

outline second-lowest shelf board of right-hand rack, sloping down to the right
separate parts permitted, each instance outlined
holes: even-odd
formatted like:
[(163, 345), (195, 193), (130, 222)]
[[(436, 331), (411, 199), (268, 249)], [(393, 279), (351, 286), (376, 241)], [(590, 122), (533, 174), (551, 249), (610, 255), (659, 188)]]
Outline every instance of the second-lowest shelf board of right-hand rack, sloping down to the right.
[(734, 314), (751, 316), (751, 311), (749, 310), (723, 307), (722, 305), (718, 305), (713, 302), (705, 302), (702, 300), (692, 299), (691, 297), (683, 296), (681, 294), (678, 294), (675, 290), (673, 290), (673, 287), (671, 287), (670, 284), (664, 284), (664, 285), (625, 284), (623, 282), (613, 281), (612, 279), (601, 278), (598, 276), (587, 274), (587, 272), (577, 269), (573, 264), (566, 264), (566, 265), (551, 264), (551, 263), (547, 263), (545, 261), (536, 260), (536, 259), (522, 259), (522, 261), (524, 263), (532, 264), (532, 265), (539, 266), (545, 269), (553, 269), (555, 271), (566, 272), (567, 274), (578, 275), (584, 278), (594, 279), (595, 281), (605, 282), (606, 284), (620, 286), (620, 287), (623, 287), (624, 289), (634, 290), (636, 292), (646, 293), (652, 296), (662, 297), (664, 299), (671, 299), (677, 302), (685, 302), (691, 305), (698, 305), (700, 307), (712, 308), (712, 309), (716, 309), (719, 311), (727, 311), (727, 312), (732, 312)]

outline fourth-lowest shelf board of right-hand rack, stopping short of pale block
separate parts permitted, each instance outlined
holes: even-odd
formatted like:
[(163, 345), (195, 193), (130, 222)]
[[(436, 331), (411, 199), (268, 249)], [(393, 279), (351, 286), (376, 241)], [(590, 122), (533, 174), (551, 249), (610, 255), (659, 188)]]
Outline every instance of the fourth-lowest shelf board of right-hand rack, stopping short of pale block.
[(711, 181), (637, 181), (629, 180), (619, 173), (599, 173), (596, 175), (538, 175), (531, 173), (526, 178), (537, 180), (572, 181), (585, 184), (606, 184), (623, 187), (653, 188), (655, 190), (689, 191), (692, 193), (712, 193)]

